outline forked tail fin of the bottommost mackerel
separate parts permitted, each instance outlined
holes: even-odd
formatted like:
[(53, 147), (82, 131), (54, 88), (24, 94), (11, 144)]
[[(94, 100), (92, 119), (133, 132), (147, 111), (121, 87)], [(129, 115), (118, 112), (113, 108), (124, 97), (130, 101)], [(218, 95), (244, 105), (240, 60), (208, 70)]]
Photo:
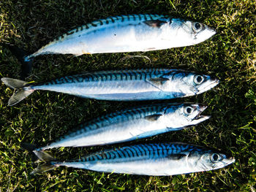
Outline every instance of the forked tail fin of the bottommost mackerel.
[(37, 155), (39, 160), (44, 161), (45, 164), (37, 166), (30, 174), (40, 174), (42, 172), (48, 172), (52, 169), (58, 167), (53, 161), (56, 161), (56, 158), (53, 158), (50, 154), (42, 151), (42, 150), (33, 150), (34, 154)]

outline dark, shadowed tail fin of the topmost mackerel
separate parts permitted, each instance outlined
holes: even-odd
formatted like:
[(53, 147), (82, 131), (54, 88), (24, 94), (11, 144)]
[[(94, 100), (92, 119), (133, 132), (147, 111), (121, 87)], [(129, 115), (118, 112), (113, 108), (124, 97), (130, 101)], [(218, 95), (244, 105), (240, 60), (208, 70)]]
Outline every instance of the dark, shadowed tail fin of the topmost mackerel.
[(22, 80), (25, 79), (25, 77), (29, 76), (29, 73), (32, 69), (32, 63), (34, 60), (34, 57), (30, 56), (29, 53), (27, 53), (25, 50), (21, 49), (20, 47), (17, 47), (15, 45), (10, 44), (3, 44), (1, 43), (1, 46), (7, 47), (10, 52), (15, 55), (15, 57), (20, 61), (21, 63), (21, 72), (20, 77)]

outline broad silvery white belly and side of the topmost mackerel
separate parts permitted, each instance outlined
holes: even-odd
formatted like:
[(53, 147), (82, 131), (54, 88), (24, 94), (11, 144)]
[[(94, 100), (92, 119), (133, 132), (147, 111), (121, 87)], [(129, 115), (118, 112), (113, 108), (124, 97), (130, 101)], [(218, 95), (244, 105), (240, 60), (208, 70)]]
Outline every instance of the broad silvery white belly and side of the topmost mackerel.
[(139, 23), (116, 23), (105, 28), (80, 31), (51, 42), (42, 47), (36, 55), (86, 53), (119, 53), (133, 51), (159, 50), (170, 47), (170, 40), (162, 38), (162, 28)]

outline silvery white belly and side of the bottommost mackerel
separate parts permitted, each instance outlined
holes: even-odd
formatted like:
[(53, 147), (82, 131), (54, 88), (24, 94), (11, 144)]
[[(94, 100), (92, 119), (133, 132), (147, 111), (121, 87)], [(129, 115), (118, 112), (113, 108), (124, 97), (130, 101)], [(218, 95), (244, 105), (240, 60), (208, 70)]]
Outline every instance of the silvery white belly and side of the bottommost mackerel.
[(62, 166), (80, 169), (90, 169), (97, 172), (115, 172), (142, 175), (175, 175), (192, 172), (187, 167), (186, 161), (168, 161), (167, 158), (153, 158), (135, 161), (93, 161), (93, 162), (67, 162)]

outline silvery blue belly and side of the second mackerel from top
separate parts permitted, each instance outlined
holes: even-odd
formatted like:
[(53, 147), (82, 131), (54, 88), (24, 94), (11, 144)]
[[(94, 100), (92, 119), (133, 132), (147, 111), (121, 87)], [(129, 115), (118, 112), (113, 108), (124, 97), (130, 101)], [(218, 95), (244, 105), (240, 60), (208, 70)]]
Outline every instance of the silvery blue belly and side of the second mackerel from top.
[(171, 99), (174, 97), (173, 93), (162, 91), (144, 80), (61, 83), (39, 85), (33, 88), (91, 99), (115, 101)]

